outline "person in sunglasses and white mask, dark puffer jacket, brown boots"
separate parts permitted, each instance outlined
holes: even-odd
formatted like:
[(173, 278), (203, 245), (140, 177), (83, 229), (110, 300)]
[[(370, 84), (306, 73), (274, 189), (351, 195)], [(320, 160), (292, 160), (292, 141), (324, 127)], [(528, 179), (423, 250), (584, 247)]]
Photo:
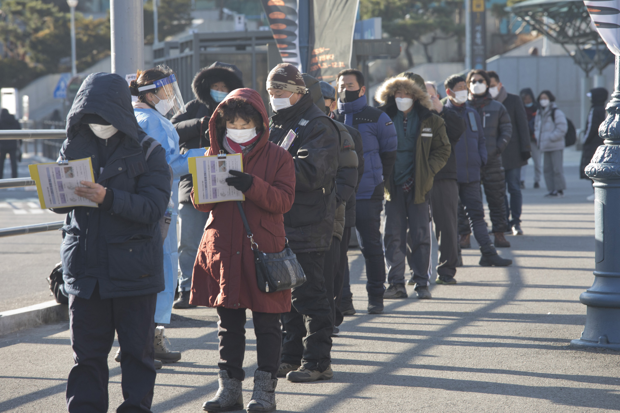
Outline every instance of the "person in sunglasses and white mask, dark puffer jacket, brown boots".
[[(467, 74), (469, 99), (466, 105), (478, 112), (482, 122), (484, 140), (487, 145), (487, 162), (482, 167), (482, 186), (489, 204), (496, 247), (510, 247), (504, 233), (508, 229), (506, 220), (506, 177), (502, 166), (502, 153), (512, 136), (510, 115), (489, 93), (491, 81), (489, 75), (481, 69), (474, 69)], [(461, 234), (461, 247), (469, 244), (471, 234)]]

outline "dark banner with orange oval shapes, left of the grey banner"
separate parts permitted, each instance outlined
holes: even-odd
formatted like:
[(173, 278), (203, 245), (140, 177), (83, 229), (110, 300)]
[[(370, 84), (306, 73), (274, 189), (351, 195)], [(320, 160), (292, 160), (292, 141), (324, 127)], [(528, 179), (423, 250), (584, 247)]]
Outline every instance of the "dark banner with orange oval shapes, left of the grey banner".
[(299, 56), (298, 0), (262, 0), (282, 61), (303, 71)]

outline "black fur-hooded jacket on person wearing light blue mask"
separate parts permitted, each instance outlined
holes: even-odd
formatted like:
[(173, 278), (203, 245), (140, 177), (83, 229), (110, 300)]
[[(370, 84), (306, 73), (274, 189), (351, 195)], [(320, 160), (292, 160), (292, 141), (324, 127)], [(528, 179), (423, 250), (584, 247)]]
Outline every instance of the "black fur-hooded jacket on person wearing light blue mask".
[[(216, 61), (196, 74), (192, 82), (196, 99), (185, 104), (185, 113), (179, 113), (170, 119), (179, 133), (179, 148), (182, 154), (188, 149), (209, 146), (209, 118), (218, 107), (211, 97), (211, 85), (217, 82), (224, 82), (229, 91), (243, 87), (241, 71), (234, 64)], [(192, 203), (190, 192), (192, 175), (184, 175), (179, 182), (179, 202)]]

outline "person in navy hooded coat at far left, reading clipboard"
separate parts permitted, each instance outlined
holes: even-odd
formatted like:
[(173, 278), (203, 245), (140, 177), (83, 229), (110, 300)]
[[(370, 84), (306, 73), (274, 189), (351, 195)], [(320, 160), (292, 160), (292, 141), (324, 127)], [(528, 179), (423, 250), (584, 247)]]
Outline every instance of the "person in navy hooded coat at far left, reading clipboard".
[(60, 255), (75, 360), (67, 409), (107, 412), (108, 353), (116, 331), (124, 399), (117, 411), (150, 412), (153, 320), (157, 293), (164, 290), (159, 220), (170, 200), (166, 151), (139, 127), (118, 74), (84, 80), (66, 130), (60, 159), (91, 159), (95, 182), (82, 181), (75, 193), (98, 206), (54, 210), (67, 214)]

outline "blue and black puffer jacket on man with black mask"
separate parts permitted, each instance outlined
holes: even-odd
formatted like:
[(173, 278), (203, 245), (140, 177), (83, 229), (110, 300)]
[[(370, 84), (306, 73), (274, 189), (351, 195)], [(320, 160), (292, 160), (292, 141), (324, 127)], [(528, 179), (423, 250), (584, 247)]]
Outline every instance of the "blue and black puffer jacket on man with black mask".
[(356, 199), (383, 199), (387, 180), (396, 161), (398, 138), (392, 120), (382, 110), (368, 106), (366, 96), (353, 102), (338, 99), (335, 119), (360, 131), (364, 148), (364, 174)]

